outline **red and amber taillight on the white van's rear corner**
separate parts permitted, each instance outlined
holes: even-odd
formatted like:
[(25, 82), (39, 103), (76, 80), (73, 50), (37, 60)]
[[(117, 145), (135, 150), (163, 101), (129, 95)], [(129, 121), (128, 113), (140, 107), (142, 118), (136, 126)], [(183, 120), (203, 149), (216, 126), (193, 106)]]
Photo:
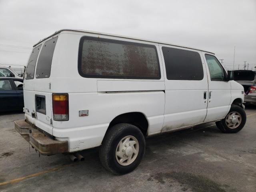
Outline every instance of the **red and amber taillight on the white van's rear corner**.
[(68, 121), (68, 94), (52, 94), (52, 113), (55, 121)]

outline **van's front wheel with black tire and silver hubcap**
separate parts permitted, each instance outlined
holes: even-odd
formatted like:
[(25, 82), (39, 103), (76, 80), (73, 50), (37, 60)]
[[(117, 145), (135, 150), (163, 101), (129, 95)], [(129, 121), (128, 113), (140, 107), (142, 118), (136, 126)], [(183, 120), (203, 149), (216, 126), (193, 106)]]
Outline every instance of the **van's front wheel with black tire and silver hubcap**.
[(237, 133), (246, 123), (246, 113), (243, 108), (231, 105), (226, 117), (216, 122), (216, 126), (224, 133)]

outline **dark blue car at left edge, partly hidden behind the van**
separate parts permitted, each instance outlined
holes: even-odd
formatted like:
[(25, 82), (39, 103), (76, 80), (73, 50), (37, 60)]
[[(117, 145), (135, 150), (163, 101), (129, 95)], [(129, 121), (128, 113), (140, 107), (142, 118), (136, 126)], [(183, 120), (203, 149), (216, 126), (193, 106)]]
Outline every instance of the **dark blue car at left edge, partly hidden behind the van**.
[(23, 110), (23, 80), (0, 77), (0, 112)]

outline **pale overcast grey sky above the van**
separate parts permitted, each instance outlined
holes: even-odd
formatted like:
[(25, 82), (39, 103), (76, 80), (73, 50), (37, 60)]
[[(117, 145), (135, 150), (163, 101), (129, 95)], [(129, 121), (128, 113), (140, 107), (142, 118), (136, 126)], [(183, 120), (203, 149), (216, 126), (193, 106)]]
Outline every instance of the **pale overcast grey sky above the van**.
[(170, 42), (214, 52), (226, 68), (256, 66), (256, 0), (0, 0), (0, 64), (27, 63), (62, 28)]

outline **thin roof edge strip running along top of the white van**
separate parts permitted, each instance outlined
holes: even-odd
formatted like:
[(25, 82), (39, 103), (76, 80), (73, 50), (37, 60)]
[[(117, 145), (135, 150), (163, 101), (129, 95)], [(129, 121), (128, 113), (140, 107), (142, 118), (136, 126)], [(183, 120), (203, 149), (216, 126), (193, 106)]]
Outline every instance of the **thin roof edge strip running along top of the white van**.
[(121, 38), (126, 38), (126, 39), (133, 39), (133, 40), (142, 40), (142, 41), (147, 41), (147, 42), (153, 42), (153, 43), (159, 43), (159, 44), (165, 44), (165, 45), (172, 45), (172, 46), (176, 46), (176, 47), (182, 47), (182, 48), (189, 48), (189, 49), (194, 49), (194, 50), (198, 50), (198, 51), (204, 51), (204, 52), (208, 52), (211, 54), (214, 54), (213, 52), (209, 52), (206, 50), (202, 50), (202, 49), (197, 49), (197, 48), (191, 48), (191, 47), (187, 47), (187, 46), (181, 46), (181, 45), (176, 45), (176, 44), (171, 44), (171, 43), (166, 43), (166, 42), (158, 42), (158, 41), (154, 41), (154, 40), (147, 40), (147, 39), (141, 39), (141, 38), (135, 38), (135, 37), (129, 37), (129, 36), (122, 36), (122, 35), (117, 35), (117, 34), (109, 34), (109, 33), (102, 33), (102, 32), (96, 32), (96, 31), (88, 31), (88, 30), (78, 30), (78, 29), (61, 29), (56, 31), (54, 34), (40, 40), (38, 43), (34, 44), (33, 47), (37, 46), (38, 44), (40, 44), (41, 42), (43, 42), (44, 40), (62, 32), (62, 31), (75, 31), (75, 32), (86, 32), (86, 33), (93, 33), (93, 34), (99, 34), (99, 35), (106, 35), (106, 36), (113, 36), (113, 37), (121, 37)]

